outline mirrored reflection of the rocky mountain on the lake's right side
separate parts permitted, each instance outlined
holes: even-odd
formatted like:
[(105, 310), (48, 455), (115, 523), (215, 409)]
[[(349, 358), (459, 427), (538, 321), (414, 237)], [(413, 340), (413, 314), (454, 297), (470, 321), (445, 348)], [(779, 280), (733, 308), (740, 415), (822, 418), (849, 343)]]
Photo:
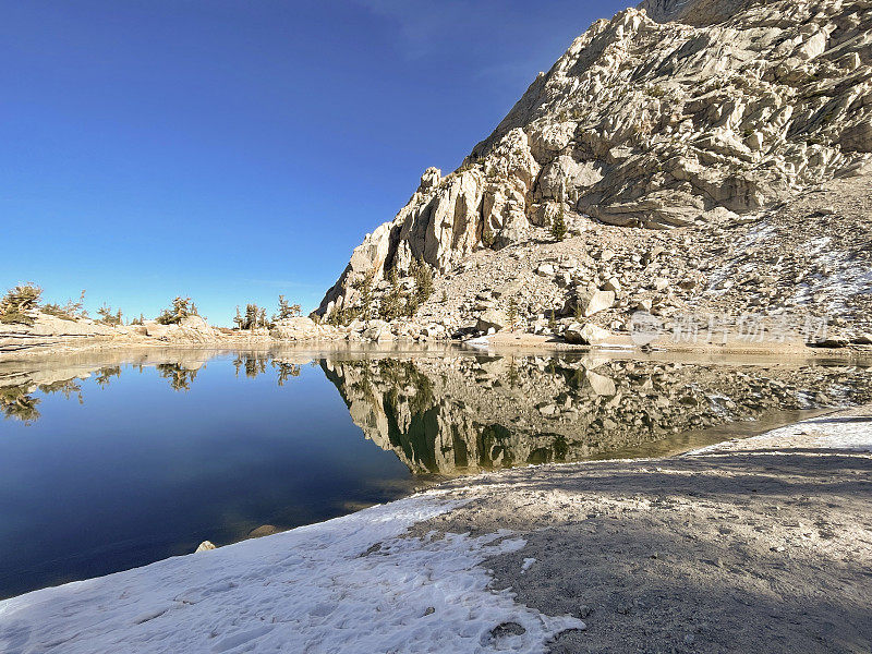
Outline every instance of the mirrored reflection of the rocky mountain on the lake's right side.
[(324, 360), (322, 367), (365, 436), (417, 474), (578, 461), (625, 449), (639, 456), (677, 433), (826, 405), (836, 396), (872, 398), (870, 375), (850, 367), (591, 356)]

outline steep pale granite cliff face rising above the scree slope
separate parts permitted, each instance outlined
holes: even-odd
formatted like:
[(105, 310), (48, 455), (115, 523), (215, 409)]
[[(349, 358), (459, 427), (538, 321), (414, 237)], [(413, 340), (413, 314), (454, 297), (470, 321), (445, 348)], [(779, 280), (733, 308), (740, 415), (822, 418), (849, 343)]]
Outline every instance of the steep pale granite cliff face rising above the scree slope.
[(645, 0), (576, 39), (460, 169), (425, 171), (317, 313), (413, 258), (447, 272), (526, 241), (561, 205), (572, 229), (692, 229), (864, 174), (871, 72), (869, 0)]

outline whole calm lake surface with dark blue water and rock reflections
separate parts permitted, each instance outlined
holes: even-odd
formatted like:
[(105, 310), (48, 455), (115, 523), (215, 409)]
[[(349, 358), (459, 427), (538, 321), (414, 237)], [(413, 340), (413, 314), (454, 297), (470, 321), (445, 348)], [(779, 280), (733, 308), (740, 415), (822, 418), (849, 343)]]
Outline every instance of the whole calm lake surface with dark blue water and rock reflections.
[[(0, 597), (389, 501), (872, 401), (865, 365), (457, 349), (0, 363)], [(268, 526), (265, 526), (268, 525)]]

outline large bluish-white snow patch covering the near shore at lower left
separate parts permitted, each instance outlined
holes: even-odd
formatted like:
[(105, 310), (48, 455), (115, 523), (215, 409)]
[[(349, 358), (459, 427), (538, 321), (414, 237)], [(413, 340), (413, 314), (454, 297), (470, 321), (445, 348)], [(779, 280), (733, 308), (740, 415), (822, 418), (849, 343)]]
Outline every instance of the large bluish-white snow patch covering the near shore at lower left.
[(401, 537), (465, 504), (444, 495), (0, 602), (0, 652), (541, 652), (584, 628), (488, 589), (510, 532)]

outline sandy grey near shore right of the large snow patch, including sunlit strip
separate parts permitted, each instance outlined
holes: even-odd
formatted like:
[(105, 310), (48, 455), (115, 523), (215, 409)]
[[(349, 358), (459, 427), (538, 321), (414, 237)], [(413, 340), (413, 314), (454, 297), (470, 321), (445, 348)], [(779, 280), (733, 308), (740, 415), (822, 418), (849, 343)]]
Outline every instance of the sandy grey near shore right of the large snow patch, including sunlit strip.
[(458, 482), (474, 499), (413, 533), (524, 538), (485, 565), (494, 589), (585, 621), (553, 652), (868, 652), (870, 452), (867, 407), (677, 457)]

